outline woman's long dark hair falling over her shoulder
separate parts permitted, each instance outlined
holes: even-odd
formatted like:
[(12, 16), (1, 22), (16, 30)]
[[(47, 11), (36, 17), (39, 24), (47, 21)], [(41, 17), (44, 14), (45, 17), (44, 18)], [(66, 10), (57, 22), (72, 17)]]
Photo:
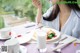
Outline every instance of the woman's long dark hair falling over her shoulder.
[[(68, 1), (77, 2), (77, 0), (65, 0), (65, 1), (66, 1), (66, 2), (68, 2)], [(79, 8), (79, 6), (78, 6), (77, 3), (66, 3), (66, 5), (67, 5), (69, 8), (73, 9), (73, 10), (80, 11), (80, 8)], [(60, 11), (60, 8), (59, 8), (59, 6), (58, 6), (58, 4), (57, 4), (56, 7), (55, 7), (55, 9), (53, 9), (53, 11), (51, 12), (50, 16), (47, 17), (47, 18), (43, 17), (43, 19), (46, 20), (46, 21), (53, 21), (54, 19), (56, 19), (59, 11)]]

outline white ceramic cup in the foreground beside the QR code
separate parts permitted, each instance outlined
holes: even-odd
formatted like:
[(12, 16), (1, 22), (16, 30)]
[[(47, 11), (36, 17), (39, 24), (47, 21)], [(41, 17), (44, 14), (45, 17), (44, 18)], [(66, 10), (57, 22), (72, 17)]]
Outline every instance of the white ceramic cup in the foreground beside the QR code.
[(20, 45), (15, 38), (7, 40), (4, 46), (7, 46), (7, 53), (20, 53)]

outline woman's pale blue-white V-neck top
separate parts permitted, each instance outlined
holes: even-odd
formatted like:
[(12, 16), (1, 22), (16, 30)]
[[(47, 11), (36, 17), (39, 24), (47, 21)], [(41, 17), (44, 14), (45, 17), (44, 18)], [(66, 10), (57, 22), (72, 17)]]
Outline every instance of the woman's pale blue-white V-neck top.
[[(52, 10), (53, 10), (53, 7), (51, 7), (43, 16), (44, 17), (49, 16)], [(75, 12), (77, 13), (79, 17), (76, 15)], [(71, 35), (76, 38), (80, 38), (80, 15), (79, 15), (80, 12), (76, 10), (75, 12), (74, 10), (71, 10), (71, 14), (68, 20), (66, 21), (66, 23), (64, 24), (64, 26), (62, 27), (61, 32), (67, 35)], [(42, 19), (42, 24), (44, 26), (48, 26), (50, 28), (54, 28), (59, 31), (59, 26), (60, 26), (59, 25), (59, 13), (58, 13), (57, 18), (53, 21), (46, 21)]]

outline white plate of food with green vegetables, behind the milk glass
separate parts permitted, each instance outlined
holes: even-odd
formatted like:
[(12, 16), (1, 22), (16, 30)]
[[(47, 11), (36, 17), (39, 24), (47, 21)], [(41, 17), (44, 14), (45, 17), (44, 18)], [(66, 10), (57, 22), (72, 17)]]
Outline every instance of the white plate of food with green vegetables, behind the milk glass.
[[(44, 32), (46, 32), (46, 41), (57, 41), (57, 40), (59, 40), (60, 39), (60, 32), (58, 32), (57, 30), (55, 30), (55, 29), (51, 29), (51, 28), (41, 28), (41, 29), (39, 29), (39, 30), (42, 30), (42, 31), (44, 31)], [(35, 30), (34, 32), (33, 32), (33, 39), (34, 40), (37, 40), (37, 32), (38, 32), (38, 30)]]

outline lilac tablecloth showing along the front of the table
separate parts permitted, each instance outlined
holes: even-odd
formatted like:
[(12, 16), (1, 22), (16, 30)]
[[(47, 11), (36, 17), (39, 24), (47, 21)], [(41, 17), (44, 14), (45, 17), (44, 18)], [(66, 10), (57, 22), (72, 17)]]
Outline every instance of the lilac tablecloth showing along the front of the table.
[[(71, 37), (71, 36), (69, 36)], [(5, 41), (0, 41), (0, 46), (3, 45)], [(28, 50), (28, 53), (39, 53), (37, 49), (36, 43), (25, 43), (22, 44)], [(47, 52), (46, 53), (54, 53), (52, 49), (54, 48), (53, 43), (47, 43)], [(66, 47), (62, 48), (62, 53), (76, 53), (77, 50), (80, 50), (80, 44), (74, 46), (74, 43), (68, 44)]]

